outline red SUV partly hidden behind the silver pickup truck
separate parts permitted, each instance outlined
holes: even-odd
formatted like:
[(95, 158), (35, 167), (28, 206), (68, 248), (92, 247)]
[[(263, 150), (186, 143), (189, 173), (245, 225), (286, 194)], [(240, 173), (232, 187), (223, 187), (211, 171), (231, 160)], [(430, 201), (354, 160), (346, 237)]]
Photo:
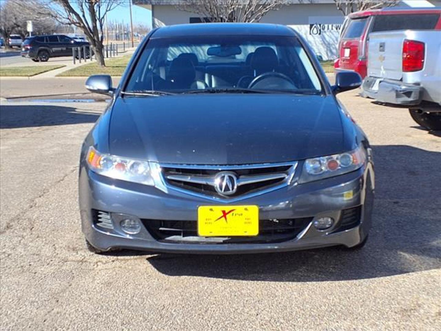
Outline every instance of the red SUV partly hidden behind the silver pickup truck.
[(341, 29), (335, 70), (353, 70), (366, 77), (370, 32), (393, 30), (441, 30), (441, 8), (383, 8), (348, 15)]

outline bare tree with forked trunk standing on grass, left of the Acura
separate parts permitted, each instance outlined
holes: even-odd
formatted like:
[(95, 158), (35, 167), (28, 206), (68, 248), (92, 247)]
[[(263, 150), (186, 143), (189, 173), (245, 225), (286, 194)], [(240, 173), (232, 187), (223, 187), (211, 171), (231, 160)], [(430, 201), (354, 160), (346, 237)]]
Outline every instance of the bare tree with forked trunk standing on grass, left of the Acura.
[(105, 17), (109, 11), (122, 5), (124, 0), (52, 0), (51, 6), (43, 0), (26, 0), (26, 3), (40, 4), (39, 15), (50, 16), (64, 25), (79, 27), (89, 41), (98, 64), (105, 66)]

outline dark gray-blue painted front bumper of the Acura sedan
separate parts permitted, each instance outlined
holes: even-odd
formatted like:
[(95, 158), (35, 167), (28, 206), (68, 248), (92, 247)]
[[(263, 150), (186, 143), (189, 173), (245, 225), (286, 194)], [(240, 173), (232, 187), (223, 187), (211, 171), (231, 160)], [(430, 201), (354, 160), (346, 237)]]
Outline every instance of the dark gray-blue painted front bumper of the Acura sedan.
[[(369, 185), (367, 182), (369, 181)], [(196, 222), (201, 205), (222, 205), (213, 201), (169, 190), (112, 180), (82, 166), (79, 178), (82, 230), (87, 241), (100, 250), (112, 248), (140, 249), (175, 253), (258, 253), (286, 252), (333, 245), (352, 247), (364, 240), (370, 229), (373, 205), (374, 173), (368, 164), (353, 173), (322, 181), (289, 186), (261, 196), (243, 199), (236, 205), (258, 205), (261, 219), (287, 219), (330, 216), (340, 219), (342, 210), (361, 208), (359, 222), (339, 230), (337, 224), (327, 231), (318, 231), (312, 221), (295, 238), (277, 243), (209, 243), (208, 241), (162, 242), (143, 227), (136, 235), (101, 229), (93, 219), (92, 210), (135, 215), (150, 220), (184, 220)], [(366, 189), (366, 188), (372, 188)], [(345, 192), (351, 192), (350, 198)], [(345, 198), (346, 196), (346, 198)]]

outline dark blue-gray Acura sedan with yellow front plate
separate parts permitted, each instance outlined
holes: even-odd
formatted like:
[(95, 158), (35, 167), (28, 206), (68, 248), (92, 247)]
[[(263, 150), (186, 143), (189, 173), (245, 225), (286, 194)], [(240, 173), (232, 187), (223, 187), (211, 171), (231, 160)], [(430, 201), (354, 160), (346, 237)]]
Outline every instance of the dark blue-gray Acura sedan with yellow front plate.
[(372, 151), (306, 42), (286, 26), (153, 30), (82, 146), (79, 204), (93, 252), (360, 248)]

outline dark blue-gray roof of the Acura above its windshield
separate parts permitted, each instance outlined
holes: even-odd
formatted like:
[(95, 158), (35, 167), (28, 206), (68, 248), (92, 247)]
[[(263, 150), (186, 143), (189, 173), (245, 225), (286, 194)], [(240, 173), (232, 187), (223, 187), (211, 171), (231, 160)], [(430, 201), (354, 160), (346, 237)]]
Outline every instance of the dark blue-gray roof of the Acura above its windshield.
[(284, 25), (263, 23), (197, 23), (179, 24), (158, 28), (151, 38), (204, 35), (273, 35), (296, 36), (294, 30)]

